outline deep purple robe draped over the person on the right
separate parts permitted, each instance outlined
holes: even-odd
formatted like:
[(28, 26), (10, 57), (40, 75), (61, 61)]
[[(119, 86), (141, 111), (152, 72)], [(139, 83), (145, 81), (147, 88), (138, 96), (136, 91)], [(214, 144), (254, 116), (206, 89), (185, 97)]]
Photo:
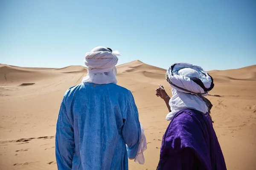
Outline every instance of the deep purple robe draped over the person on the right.
[(186, 109), (163, 135), (157, 170), (227, 170), (209, 114)]

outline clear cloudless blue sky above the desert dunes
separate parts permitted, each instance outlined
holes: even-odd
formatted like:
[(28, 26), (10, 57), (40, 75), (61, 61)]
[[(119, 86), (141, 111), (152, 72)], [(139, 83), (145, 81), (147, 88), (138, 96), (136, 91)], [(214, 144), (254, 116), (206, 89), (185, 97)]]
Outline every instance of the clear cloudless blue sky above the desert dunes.
[(255, 65), (256, 1), (0, 0), (0, 63), (83, 65), (96, 46), (118, 50), (118, 64)]

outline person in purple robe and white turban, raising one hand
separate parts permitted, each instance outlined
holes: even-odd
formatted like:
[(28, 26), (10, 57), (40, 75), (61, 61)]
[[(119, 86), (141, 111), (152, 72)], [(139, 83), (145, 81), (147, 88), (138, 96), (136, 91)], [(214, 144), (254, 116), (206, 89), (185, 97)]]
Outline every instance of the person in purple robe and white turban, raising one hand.
[(211, 102), (204, 96), (214, 87), (201, 67), (175, 63), (166, 72), (170, 98), (163, 86), (156, 95), (166, 102), (171, 121), (163, 135), (157, 170), (227, 170), (212, 126)]

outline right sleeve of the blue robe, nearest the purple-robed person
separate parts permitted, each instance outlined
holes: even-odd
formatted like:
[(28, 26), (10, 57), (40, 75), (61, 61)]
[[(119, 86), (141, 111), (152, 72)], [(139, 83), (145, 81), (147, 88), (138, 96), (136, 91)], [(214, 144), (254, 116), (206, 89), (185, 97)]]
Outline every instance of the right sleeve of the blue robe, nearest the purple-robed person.
[(140, 122), (137, 106), (134, 97), (129, 92), (127, 111), (123, 116), (124, 125), (122, 127), (122, 136), (127, 144), (128, 158), (134, 159), (137, 156), (137, 150), (140, 142)]

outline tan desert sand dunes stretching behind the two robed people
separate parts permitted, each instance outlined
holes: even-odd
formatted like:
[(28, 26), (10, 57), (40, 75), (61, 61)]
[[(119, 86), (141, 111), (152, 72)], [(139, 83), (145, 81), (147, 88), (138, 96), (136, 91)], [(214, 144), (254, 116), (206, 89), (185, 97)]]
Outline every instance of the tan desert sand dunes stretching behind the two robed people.
[[(170, 63), (171, 64), (171, 63)], [(155, 170), (168, 113), (155, 88), (166, 70), (140, 61), (117, 66), (118, 84), (132, 91), (145, 127), (148, 149), (145, 164), (129, 160), (130, 170)], [(55, 125), (67, 88), (79, 84), (87, 68), (22, 68), (0, 65), (0, 169), (56, 170)], [(256, 65), (209, 71), (215, 88), (207, 98), (213, 104), (214, 128), (228, 170), (256, 169)]]

